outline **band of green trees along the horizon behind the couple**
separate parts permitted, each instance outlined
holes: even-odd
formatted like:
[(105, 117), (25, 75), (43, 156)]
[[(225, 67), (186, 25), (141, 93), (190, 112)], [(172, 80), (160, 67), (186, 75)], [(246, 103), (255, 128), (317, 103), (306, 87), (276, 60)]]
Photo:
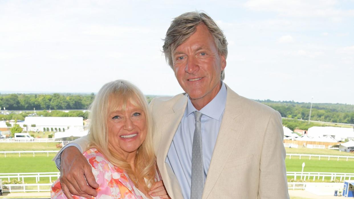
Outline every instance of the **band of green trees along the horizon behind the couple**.
[[(155, 96), (146, 96), (150, 102)], [(95, 94), (1, 94), (0, 107), (6, 110), (84, 110), (89, 107)], [(280, 112), (282, 117), (294, 119), (309, 119), (310, 103), (293, 101), (256, 100)], [(49, 114), (44, 112), (43, 116)], [(56, 117), (70, 117), (66, 113), (56, 113)], [(60, 116), (63, 114), (63, 116)], [(77, 115), (82, 112), (75, 113)], [(20, 116), (13, 115), (15, 119), (23, 120)], [(76, 116), (71, 116), (76, 117)], [(8, 118), (8, 116), (6, 117)], [(11, 119), (14, 119), (11, 118)], [(319, 104), (312, 106), (311, 120), (336, 123), (354, 124), (354, 105), (348, 104)]]

